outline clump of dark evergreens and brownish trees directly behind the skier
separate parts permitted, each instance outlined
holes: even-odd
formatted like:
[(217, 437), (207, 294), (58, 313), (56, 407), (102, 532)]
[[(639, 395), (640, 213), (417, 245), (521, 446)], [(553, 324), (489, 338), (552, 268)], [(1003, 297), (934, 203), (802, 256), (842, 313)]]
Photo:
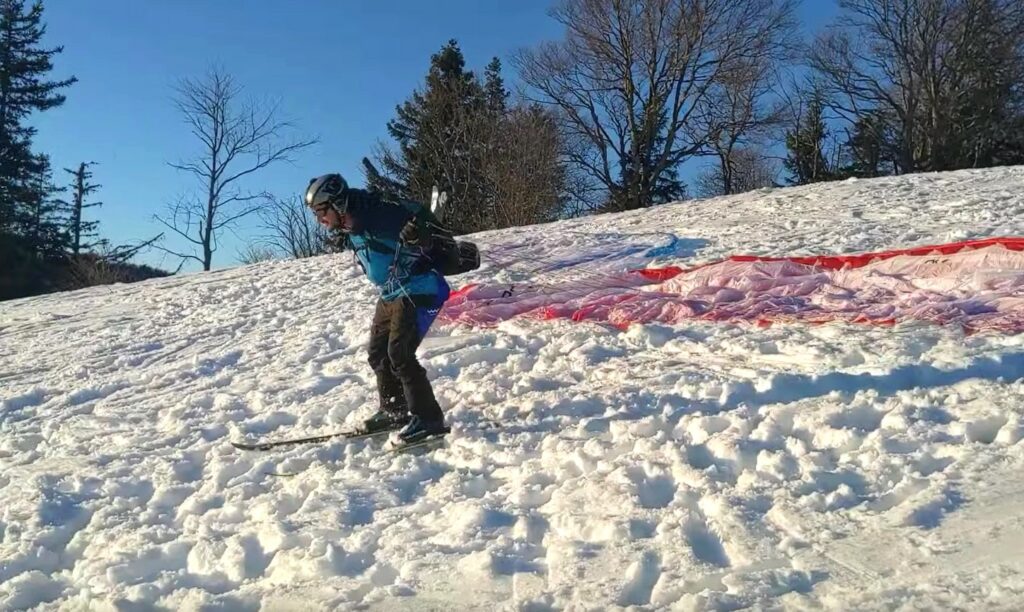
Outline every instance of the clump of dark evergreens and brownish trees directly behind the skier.
[(426, 204), (436, 186), (457, 234), (556, 218), (568, 188), (557, 117), (509, 103), (501, 71), (495, 57), (478, 78), (454, 40), (432, 55), (424, 88), (388, 123), (396, 149), (364, 160), (368, 187)]

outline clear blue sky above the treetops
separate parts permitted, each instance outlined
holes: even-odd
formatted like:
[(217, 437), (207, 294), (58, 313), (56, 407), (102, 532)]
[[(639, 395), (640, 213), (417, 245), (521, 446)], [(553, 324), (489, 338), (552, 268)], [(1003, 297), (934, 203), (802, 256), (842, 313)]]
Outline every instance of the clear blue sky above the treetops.
[[(741, 1), (741, 0), (737, 0)], [(549, 0), (48, 0), (48, 45), (63, 45), (54, 79), (79, 82), (60, 107), (33, 118), (36, 148), (48, 152), (55, 177), (92, 161), (101, 185), (91, 209), (114, 243), (162, 231), (153, 215), (195, 189), (168, 166), (197, 148), (172, 103), (173, 87), (218, 63), (246, 92), (278, 100), (299, 136), (321, 142), (291, 165), (258, 175), (259, 188), (299, 193), (308, 179), (338, 171), (361, 184), (359, 160), (386, 139), (396, 104), (417, 88), (430, 55), (455, 38), (469, 68), (493, 56), (514, 82), (512, 53), (561, 37), (547, 15)], [(835, 0), (803, 0), (805, 29), (836, 13)], [(225, 236), (214, 267), (236, 263), (252, 235)], [(184, 248), (169, 242), (169, 247)], [(152, 253), (143, 263), (173, 269), (177, 260)], [(185, 270), (198, 269), (194, 265)]]

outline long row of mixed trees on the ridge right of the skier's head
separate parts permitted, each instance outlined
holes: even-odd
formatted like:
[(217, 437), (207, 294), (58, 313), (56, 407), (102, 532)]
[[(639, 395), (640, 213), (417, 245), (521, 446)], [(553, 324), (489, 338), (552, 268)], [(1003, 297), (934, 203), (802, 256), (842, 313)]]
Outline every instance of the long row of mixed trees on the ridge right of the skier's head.
[[(766, 186), (1024, 163), (1024, 3), (559, 0), (564, 38), (478, 78), (456, 41), (365, 161), (476, 231)], [(703, 171), (691, 184), (687, 165)]]

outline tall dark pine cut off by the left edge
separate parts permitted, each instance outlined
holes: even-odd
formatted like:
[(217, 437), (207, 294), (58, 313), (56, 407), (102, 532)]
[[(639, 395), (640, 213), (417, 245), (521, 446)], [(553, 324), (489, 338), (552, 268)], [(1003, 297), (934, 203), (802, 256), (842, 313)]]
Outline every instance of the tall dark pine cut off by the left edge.
[[(0, 0), (0, 232), (39, 228), (40, 210), (48, 205), (52, 187), (48, 180), (49, 162), (32, 152), (35, 129), (25, 121), (37, 111), (63, 103), (58, 90), (76, 82), (47, 81), (51, 58), (63, 48), (39, 47), (46, 27), (42, 24), (43, 4), (26, 0)], [(40, 236), (43, 233), (38, 234)], [(42, 238), (40, 238), (42, 239)], [(40, 244), (37, 251), (48, 251)]]

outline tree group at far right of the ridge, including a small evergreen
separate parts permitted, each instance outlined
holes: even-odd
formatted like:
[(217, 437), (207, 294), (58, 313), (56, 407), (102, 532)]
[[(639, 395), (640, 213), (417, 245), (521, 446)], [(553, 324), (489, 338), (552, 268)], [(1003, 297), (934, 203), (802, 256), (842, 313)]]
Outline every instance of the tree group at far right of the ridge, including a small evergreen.
[(806, 54), (785, 140), (794, 182), (1024, 163), (1024, 3), (841, 6)]

